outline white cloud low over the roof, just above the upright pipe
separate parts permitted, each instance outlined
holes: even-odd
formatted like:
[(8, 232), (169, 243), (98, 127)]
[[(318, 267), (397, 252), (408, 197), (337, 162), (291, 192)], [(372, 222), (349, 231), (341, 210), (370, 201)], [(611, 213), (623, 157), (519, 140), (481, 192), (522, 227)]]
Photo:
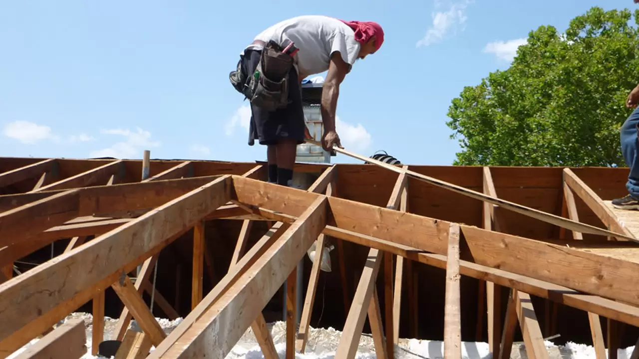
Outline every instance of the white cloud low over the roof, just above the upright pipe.
[(151, 132), (144, 131), (139, 127), (136, 132), (128, 130), (128, 128), (126, 130), (114, 128), (100, 132), (107, 135), (119, 135), (124, 137), (124, 140), (116, 142), (109, 148), (92, 151), (91, 157), (140, 158), (144, 149), (160, 146), (160, 142), (151, 141)]

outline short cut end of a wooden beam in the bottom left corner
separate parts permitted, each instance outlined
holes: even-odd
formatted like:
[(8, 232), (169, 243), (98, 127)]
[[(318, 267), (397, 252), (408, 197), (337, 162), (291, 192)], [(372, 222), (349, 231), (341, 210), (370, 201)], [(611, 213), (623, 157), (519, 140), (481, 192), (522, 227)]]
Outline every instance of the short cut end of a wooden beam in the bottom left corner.
[(85, 354), (84, 321), (69, 319), (15, 356), (15, 359), (79, 359)]

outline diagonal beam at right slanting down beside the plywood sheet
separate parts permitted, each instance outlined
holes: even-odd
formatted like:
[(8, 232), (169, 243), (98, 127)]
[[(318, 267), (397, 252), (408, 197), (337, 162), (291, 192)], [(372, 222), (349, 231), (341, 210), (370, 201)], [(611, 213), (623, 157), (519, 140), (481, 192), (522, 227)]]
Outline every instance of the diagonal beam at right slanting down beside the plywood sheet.
[[(626, 238), (629, 240), (636, 240), (635, 236), (628, 231), (626, 227), (619, 224), (617, 222), (617, 217), (612, 213), (610, 208), (606, 207), (606, 205), (601, 201), (601, 198), (583, 182), (576, 174), (574, 174), (571, 169), (565, 168), (564, 172), (564, 182), (576, 193), (592, 210), (597, 217), (603, 222), (604, 225), (610, 230), (615, 231), (617, 233), (624, 234), (625, 236), (629, 236), (630, 238)], [(570, 209), (570, 208), (569, 208)], [(574, 229), (574, 231), (579, 231), (578, 229)], [(585, 232), (585, 231), (581, 231)], [(606, 235), (606, 234), (602, 234)], [(612, 237), (615, 237), (612, 235)]]

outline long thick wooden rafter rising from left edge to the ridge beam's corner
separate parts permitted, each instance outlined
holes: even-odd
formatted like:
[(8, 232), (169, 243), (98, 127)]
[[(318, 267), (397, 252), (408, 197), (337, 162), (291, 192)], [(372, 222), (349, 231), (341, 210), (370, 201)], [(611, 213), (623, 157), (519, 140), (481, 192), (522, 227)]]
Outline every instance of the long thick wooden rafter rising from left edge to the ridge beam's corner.
[[(17, 280), (0, 284), (0, 302), (11, 309), (0, 309), (0, 322), (4, 323), (0, 327), (0, 340), (43, 312), (73, 298), (79, 288), (94, 286), (109, 275), (119, 273), (125, 264), (212, 213), (229, 201), (229, 182), (228, 176), (215, 179), (117, 231), (103, 234), (72, 252), (61, 254), (56, 261), (43, 263)], [(108, 186), (114, 187), (117, 185)], [(87, 268), (86, 263), (91, 263), (91, 267)], [(103, 289), (109, 285), (106, 284)]]

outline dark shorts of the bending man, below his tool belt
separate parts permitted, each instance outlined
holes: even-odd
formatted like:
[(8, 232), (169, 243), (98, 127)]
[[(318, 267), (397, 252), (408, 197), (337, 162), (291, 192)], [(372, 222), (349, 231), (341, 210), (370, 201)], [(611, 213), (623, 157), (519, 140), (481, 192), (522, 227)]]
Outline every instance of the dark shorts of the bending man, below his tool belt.
[[(242, 67), (246, 73), (255, 72), (261, 56), (260, 50), (247, 49), (242, 57)], [(304, 143), (304, 110), (302, 109), (302, 88), (295, 67), (288, 74), (288, 99), (290, 103), (284, 109), (268, 112), (250, 105), (249, 145), (257, 139), (259, 144), (277, 144), (282, 139), (293, 139), (297, 144)]]

